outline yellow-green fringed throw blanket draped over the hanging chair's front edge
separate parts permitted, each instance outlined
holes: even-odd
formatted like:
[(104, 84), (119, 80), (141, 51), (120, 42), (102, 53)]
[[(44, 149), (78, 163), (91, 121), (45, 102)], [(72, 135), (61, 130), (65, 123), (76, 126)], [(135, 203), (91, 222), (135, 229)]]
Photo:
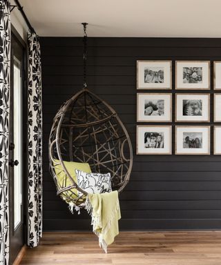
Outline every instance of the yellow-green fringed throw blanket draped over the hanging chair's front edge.
[(99, 237), (99, 246), (107, 253), (107, 247), (119, 234), (118, 220), (121, 215), (117, 190), (111, 193), (88, 194), (86, 210), (92, 218), (93, 232)]

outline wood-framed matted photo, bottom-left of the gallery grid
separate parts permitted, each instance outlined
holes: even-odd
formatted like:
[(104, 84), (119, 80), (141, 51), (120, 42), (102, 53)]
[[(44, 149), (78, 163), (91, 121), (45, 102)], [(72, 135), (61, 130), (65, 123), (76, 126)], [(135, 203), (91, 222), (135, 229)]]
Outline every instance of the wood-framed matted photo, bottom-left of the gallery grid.
[(171, 126), (137, 126), (137, 155), (171, 155)]

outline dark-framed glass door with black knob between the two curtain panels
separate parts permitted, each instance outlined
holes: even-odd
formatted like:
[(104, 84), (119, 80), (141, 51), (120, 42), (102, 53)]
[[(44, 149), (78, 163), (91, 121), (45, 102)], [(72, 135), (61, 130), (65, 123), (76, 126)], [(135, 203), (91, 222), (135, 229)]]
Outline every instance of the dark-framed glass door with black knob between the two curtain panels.
[(23, 228), (23, 66), (24, 48), (11, 35), (10, 71), (10, 264), (13, 264), (24, 244)]

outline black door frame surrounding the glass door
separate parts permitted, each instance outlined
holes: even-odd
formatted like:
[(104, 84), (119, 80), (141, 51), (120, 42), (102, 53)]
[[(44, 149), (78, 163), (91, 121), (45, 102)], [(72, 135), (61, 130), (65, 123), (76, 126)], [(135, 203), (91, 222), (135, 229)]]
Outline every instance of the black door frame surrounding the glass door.
[[(23, 39), (21, 38), (21, 36), (19, 35), (19, 33), (17, 32), (17, 30), (15, 29), (15, 27), (13, 27), (11, 25), (11, 37), (13, 37), (17, 43), (19, 43), (19, 45), (21, 46), (22, 50), (23, 50), (23, 59), (22, 59), (22, 64), (23, 64), (23, 73), (22, 73), (22, 93), (23, 93), (23, 97), (22, 97), (22, 103), (23, 103), (23, 118), (22, 118), (22, 122), (23, 122), (23, 126), (22, 126), (22, 130), (23, 130), (23, 244), (27, 243), (27, 237), (28, 237), (28, 233), (27, 233), (27, 229), (28, 229), (28, 45), (25, 41), (23, 41)], [(12, 49), (11, 49), (11, 61), (12, 61)], [(12, 82), (12, 67), (10, 70), (11, 73), (11, 77), (10, 77), (10, 81)], [(12, 91), (12, 90), (11, 90)], [(11, 95), (13, 97), (13, 95)], [(11, 99), (12, 99), (11, 97)], [(12, 193), (12, 181), (9, 182), (10, 187), (10, 194)], [(12, 197), (12, 195), (10, 195), (10, 198)], [(10, 202), (10, 224), (12, 224), (12, 217), (14, 215), (13, 213), (13, 202)], [(14, 230), (14, 226), (10, 226), (10, 236), (12, 235), (12, 230)], [(11, 257), (11, 253), (10, 254), (10, 264), (13, 264), (15, 257)]]

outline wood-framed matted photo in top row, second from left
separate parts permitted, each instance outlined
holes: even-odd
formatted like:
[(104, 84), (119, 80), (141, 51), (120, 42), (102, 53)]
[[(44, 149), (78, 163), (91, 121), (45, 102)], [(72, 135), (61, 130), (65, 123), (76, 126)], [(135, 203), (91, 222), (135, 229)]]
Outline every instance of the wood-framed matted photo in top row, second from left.
[(210, 89), (210, 61), (176, 61), (176, 89)]

